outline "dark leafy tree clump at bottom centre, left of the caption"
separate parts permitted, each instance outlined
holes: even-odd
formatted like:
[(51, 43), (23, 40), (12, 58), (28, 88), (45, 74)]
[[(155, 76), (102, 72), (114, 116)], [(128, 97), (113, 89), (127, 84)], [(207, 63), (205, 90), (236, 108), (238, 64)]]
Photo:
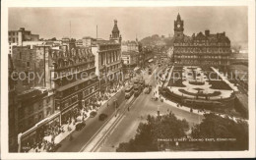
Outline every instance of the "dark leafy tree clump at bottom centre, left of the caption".
[(186, 120), (178, 120), (173, 113), (161, 116), (161, 118), (148, 115), (147, 123), (141, 123), (134, 138), (129, 142), (120, 143), (118, 152), (145, 152), (158, 151), (159, 138), (184, 137), (188, 123)]

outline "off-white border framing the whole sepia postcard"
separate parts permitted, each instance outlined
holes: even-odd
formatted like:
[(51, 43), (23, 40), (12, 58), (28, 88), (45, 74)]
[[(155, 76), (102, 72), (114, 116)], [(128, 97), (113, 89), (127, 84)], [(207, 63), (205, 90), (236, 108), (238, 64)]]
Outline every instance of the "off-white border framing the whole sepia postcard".
[[(144, 152), (144, 153), (8, 153), (8, 8), (9, 7), (165, 7), (247, 6), (249, 32), (249, 151)], [(255, 157), (255, 1), (86, 1), (4, 0), (1, 10), (1, 158), (2, 159), (109, 159), (109, 158), (241, 158)], [(171, 21), (171, 20), (170, 20)]]

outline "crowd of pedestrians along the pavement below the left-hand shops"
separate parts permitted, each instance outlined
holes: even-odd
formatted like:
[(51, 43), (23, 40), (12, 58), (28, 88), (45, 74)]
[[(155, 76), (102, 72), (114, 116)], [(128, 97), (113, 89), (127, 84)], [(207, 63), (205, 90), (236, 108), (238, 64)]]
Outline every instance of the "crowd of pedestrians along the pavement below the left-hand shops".
[[(90, 104), (82, 106), (81, 108), (73, 109), (67, 119), (63, 121), (63, 125), (60, 126), (59, 123), (53, 123), (49, 126), (44, 126), (40, 137), (36, 138), (35, 142), (28, 141), (22, 146), (22, 152), (51, 152), (56, 149), (57, 144), (55, 143), (55, 137), (60, 133), (66, 135), (70, 134), (74, 127), (79, 122), (86, 121), (90, 111), (97, 110), (104, 101), (111, 98), (113, 93), (116, 93), (120, 87), (123, 86), (122, 83), (113, 84), (112, 87), (106, 89), (103, 93), (100, 93), (98, 97), (91, 100)], [(68, 132), (68, 133), (66, 133)], [(24, 142), (23, 142), (24, 143)]]

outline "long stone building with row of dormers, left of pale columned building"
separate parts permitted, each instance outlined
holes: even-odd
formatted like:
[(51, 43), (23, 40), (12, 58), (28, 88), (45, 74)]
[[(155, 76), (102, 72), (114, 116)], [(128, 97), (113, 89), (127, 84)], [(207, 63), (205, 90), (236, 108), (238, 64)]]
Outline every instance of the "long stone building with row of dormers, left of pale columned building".
[(49, 57), (55, 108), (60, 109), (61, 124), (65, 124), (98, 95), (95, 56), (91, 48), (76, 47), (70, 51), (51, 49)]

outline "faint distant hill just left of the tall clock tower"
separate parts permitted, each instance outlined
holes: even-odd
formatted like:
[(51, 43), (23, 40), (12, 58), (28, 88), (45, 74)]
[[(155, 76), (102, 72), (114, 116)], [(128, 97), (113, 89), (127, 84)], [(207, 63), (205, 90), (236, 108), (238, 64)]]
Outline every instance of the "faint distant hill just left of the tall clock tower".
[(173, 38), (172, 37), (164, 37), (163, 35), (154, 34), (152, 36), (147, 36), (140, 41), (143, 45), (146, 46), (154, 46), (154, 45), (166, 45), (172, 46), (173, 45)]

